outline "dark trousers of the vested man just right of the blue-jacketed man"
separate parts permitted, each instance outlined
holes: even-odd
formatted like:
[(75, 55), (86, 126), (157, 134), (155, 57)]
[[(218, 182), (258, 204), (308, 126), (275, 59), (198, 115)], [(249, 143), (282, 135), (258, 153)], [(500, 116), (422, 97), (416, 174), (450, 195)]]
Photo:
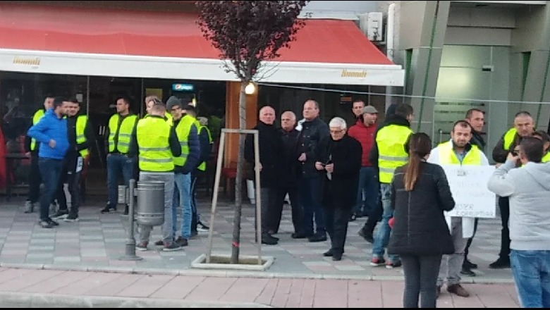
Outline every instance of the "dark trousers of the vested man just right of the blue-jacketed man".
[(75, 167), (69, 167), (69, 161), (63, 161), (63, 168), (59, 176), (57, 187), (57, 203), (59, 211), (67, 211), (67, 197), (63, 185), (68, 184), (68, 192), (71, 195), (71, 213), (78, 215), (80, 207), (80, 171), (75, 172)]

